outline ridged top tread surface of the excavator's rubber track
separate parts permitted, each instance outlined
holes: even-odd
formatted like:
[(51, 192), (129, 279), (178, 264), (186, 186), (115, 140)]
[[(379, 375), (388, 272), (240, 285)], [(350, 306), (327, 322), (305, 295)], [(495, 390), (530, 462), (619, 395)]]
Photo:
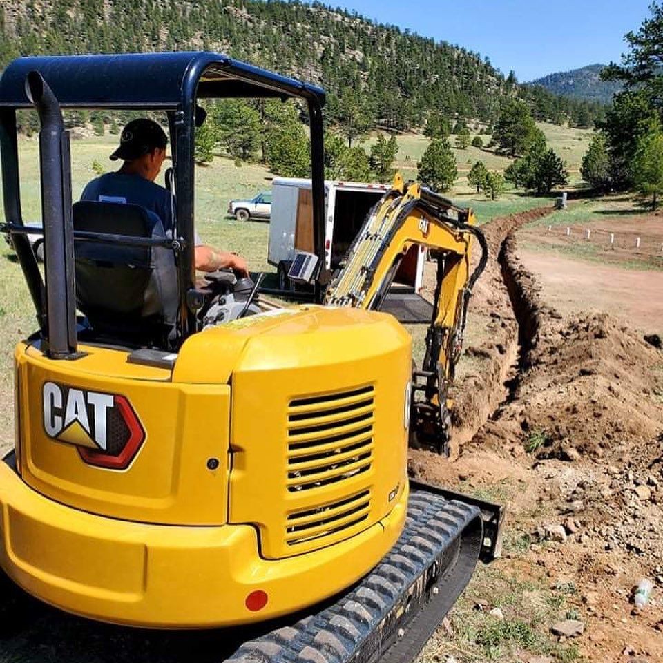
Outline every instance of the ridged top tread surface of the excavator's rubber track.
[[(245, 642), (227, 663), (262, 663), (268, 651), (273, 652), (270, 663), (371, 661), (371, 652), (361, 652), (361, 649), (371, 646), (369, 640), (376, 635), (376, 628), (389, 615), (390, 609), (436, 559), (443, 559), (460, 533), (478, 518), (479, 511), (473, 506), (448, 501), (429, 492), (412, 491), (401, 537), (358, 586), (316, 615)], [(467, 584), (479, 556), (475, 541), (467, 548), (464, 551), (459, 548), (457, 559), (452, 561), (442, 580), (444, 583), (452, 577), (456, 566), (463, 573), (450, 587), (451, 602)], [(461, 564), (457, 564), (459, 559)], [(427, 628), (430, 619), (429, 615)], [(411, 650), (415, 647), (411, 655), (405, 655), (410, 659), (423, 645), (419, 642), (416, 647), (410, 642), (414, 635), (408, 634), (406, 639)], [(405, 660), (405, 657), (401, 651), (397, 659)]]

